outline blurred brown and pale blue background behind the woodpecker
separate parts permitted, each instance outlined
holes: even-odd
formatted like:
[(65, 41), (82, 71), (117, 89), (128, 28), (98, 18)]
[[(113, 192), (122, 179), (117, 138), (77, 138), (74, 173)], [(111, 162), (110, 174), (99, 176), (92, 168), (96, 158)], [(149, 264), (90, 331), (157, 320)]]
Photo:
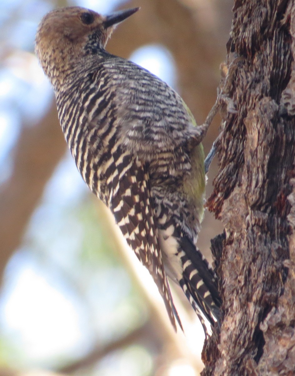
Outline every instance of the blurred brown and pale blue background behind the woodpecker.
[[(1, 0), (0, 376), (196, 376), (204, 341), (196, 315), (173, 287), (185, 335), (173, 332), (148, 273), (78, 174), (34, 55), (41, 18), (73, 5), (103, 14), (140, 6), (107, 50), (169, 83), (199, 124), (226, 57), (233, 0)], [(207, 197), (216, 171), (217, 158)], [(208, 259), (221, 231), (206, 212), (199, 248)]]

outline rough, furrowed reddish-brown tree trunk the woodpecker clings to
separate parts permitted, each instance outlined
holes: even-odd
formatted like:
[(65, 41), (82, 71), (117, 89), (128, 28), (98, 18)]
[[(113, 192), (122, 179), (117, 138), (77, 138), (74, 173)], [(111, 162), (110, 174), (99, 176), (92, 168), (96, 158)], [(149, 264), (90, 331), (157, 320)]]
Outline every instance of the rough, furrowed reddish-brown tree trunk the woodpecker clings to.
[(203, 375), (295, 374), (295, 5), (236, 1), (208, 208), (224, 320)]

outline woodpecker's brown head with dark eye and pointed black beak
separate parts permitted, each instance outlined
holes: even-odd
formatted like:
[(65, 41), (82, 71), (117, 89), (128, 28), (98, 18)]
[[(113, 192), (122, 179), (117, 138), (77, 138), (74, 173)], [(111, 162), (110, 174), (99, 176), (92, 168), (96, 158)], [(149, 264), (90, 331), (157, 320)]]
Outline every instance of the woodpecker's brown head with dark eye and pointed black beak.
[(58, 64), (64, 68), (81, 59), (81, 55), (104, 49), (114, 27), (139, 8), (103, 16), (78, 6), (59, 8), (41, 20), (35, 51), (45, 74), (51, 79)]

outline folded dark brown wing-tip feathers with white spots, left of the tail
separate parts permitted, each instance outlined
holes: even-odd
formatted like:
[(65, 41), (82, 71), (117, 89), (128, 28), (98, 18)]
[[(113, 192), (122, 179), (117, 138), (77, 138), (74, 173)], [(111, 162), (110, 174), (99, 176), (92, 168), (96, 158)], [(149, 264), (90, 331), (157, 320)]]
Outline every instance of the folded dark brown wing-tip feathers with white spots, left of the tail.
[[(113, 157), (116, 160), (116, 153)], [(123, 168), (123, 165), (117, 165), (119, 175), (119, 171)], [(110, 208), (128, 245), (154, 278), (173, 327), (176, 330), (176, 319), (182, 328), (173, 304), (158, 245), (158, 230), (154, 223), (155, 214), (151, 202), (149, 176), (145, 165), (140, 161), (133, 160), (131, 166), (125, 169), (119, 179), (119, 189), (112, 194)]]

